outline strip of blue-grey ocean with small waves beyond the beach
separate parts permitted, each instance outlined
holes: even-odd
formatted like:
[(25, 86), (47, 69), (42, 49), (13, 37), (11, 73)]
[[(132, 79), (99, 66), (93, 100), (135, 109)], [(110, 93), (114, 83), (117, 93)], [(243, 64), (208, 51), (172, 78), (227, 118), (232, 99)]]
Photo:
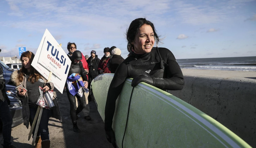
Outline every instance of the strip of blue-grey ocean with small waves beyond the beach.
[(200, 70), (256, 71), (256, 56), (177, 59), (180, 68)]

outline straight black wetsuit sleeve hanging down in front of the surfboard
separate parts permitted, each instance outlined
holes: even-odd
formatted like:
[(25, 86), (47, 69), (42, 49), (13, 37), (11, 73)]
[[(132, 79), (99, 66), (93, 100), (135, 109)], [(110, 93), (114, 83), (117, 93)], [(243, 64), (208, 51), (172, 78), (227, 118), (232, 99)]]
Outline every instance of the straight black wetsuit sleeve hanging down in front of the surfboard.
[(120, 64), (109, 86), (109, 90), (107, 93), (107, 102), (105, 106), (105, 131), (112, 130), (112, 120), (116, 107), (116, 100), (123, 88), (124, 81), (127, 78), (127, 73), (128, 72), (126, 64)]

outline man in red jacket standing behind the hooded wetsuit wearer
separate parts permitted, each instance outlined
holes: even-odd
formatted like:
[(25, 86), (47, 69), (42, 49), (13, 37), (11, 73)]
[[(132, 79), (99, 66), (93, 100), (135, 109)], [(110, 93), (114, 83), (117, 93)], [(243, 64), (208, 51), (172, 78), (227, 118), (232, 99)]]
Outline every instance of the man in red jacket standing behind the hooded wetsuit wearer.
[[(77, 50), (77, 45), (75, 43), (70, 43), (69, 42), (69, 43), (67, 43), (67, 50), (69, 51), (69, 53), (67, 53), (67, 56), (71, 60), (71, 56), (72, 56), (73, 52)], [(88, 63), (86, 62), (86, 59), (85, 59), (85, 56), (83, 55), (83, 53), (82, 53), (81, 62), (82, 62), (83, 68), (85, 69), (85, 72), (87, 74), (86, 76), (87, 76), (87, 80), (88, 80), (89, 79), (88, 78), (89, 66), (88, 66)], [(89, 96), (89, 93), (85, 93), (86, 107), (82, 110), (86, 120), (91, 119), (91, 117), (89, 116), (90, 107), (89, 107), (89, 102), (88, 102), (88, 96)], [(77, 116), (77, 118), (78, 118), (78, 116)]]

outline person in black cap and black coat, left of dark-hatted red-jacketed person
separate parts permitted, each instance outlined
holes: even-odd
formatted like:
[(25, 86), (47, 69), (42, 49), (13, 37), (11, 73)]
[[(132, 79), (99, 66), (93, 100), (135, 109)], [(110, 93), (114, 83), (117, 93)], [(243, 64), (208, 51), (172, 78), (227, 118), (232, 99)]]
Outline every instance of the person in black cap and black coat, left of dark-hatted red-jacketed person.
[(99, 61), (100, 59), (98, 58), (98, 55), (96, 55), (96, 51), (92, 50), (91, 51), (91, 56), (88, 58), (87, 63), (89, 65), (89, 85), (88, 85), (88, 89), (90, 89), (90, 84), (92, 82), (92, 80), (99, 75), (99, 71), (98, 71), (98, 65), (99, 65)]

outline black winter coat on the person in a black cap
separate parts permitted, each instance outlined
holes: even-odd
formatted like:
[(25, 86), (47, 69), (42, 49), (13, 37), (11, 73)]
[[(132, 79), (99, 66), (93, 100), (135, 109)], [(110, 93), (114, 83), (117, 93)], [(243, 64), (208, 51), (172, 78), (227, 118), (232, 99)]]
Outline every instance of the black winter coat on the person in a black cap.
[(89, 65), (89, 77), (90, 78), (94, 78), (97, 75), (99, 75), (99, 71), (98, 71), (99, 61), (100, 61), (100, 59), (98, 58), (97, 55), (95, 55), (94, 59), (92, 59), (92, 56), (90, 56), (87, 59), (87, 63)]

